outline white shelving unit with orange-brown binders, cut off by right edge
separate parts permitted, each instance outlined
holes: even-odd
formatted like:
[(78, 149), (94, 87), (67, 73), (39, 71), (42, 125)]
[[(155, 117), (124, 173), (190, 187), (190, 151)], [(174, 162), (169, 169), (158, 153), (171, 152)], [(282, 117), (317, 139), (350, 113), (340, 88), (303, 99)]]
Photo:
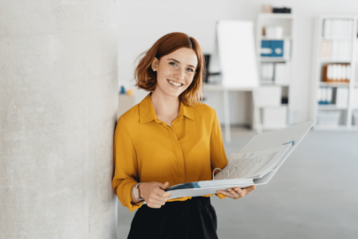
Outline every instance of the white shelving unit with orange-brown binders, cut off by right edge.
[[(327, 23), (325, 20), (330, 20), (330, 22)], [(324, 30), (327, 31), (327, 27), (331, 26), (328, 24), (333, 24), (332, 22), (338, 22), (339, 20), (352, 21), (349, 24), (347, 24), (347, 30), (352, 31), (352, 33), (349, 36), (334, 36), (334, 37), (327, 37), (324, 34)], [(319, 16), (316, 19), (316, 30), (315, 30), (315, 42), (314, 42), (314, 54), (313, 54), (313, 75), (312, 75), (312, 94), (311, 94), (311, 102), (312, 102), (312, 114), (315, 119), (319, 119), (320, 113), (322, 112), (340, 112), (340, 118), (339, 123), (336, 126), (327, 127), (324, 125), (320, 125), (320, 122), (316, 123), (314, 126), (314, 129), (316, 130), (358, 130), (358, 125), (353, 124), (353, 115), (354, 111), (358, 111), (358, 107), (354, 107), (354, 98), (358, 100), (358, 91), (355, 91), (354, 94), (354, 88), (358, 86), (358, 80), (357, 80), (357, 66), (358, 66), (358, 56), (357, 56), (357, 48), (358, 48), (358, 38), (357, 38), (357, 21), (358, 16), (349, 16), (349, 15), (322, 15)], [(324, 26), (324, 24), (327, 24), (327, 26)], [(326, 27), (324, 29), (324, 27)], [(337, 28), (337, 27), (336, 27)], [(328, 29), (333, 29), (333, 27), (330, 27)], [(337, 34), (336, 34), (337, 35)], [(325, 42), (348, 42), (348, 45), (350, 45), (351, 49), (350, 57), (349, 58), (333, 58), (333, 53), (331, 55), (331, 58), (323, 58), (324, 52), (323, 52), (323, 44)], [(325, 82), (323, 81), (324, 78), (324, 66), (328, 64), (349, 64), (350, 65), (350, 71), (347, 73), (347, 78), (349, 78), (349, 82)], [(332, 91), (339, 88), (345, 88), (348, 89), (348, 96), (347, 96), (347, 107), (337, 107), (335, 102), (337, 94), (332, 95), (332, 104), (318, 104), (318, 90), (321, 88), (331, 88)], [(358, 121), (358, 119), (356, 120)]]

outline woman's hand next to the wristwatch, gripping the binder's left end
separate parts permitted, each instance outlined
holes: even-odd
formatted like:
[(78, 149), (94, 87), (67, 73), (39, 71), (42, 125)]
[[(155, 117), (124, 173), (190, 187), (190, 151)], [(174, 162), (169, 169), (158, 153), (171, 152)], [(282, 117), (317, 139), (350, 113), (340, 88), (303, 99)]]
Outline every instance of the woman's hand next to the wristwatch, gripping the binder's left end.
[(165, 192), (164, 189), (167, 189), (169, 182), (164, 184), (157, 181), (152, 182), (142, 182), (139, 185), (141, 197), (144, 198), (146, 204), (151, 208), (160, 208), (165, 202), (171, 197), (170, 192)]

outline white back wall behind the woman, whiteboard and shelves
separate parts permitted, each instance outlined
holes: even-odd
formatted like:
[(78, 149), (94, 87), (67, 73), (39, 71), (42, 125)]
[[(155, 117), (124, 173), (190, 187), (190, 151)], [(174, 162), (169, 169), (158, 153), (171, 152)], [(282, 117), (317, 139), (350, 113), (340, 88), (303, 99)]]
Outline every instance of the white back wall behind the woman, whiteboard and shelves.
[[(119, 37), (119, 81), (133, 79), (134, 59), (156, 42), (161, 36), (171, 32), (184, 32), (201, 44), (205, 53), (214, 48), (215, 23), (218, 19), (241, 19), (256, 21), (262, 4), (292, 7), (297, 16), (297, 50), (294, 52), (292, 95), (292, 123), (309, 120), (312, 42), (314, 18), (320, 14), (357, 14), (358, 1), (349, 0), (286, 0), (286, 1), (230, 1), (230, 0), (131, 0), (120, 1)], [(137, 91), (136, 102), (147, 93)], [(221, 97), (208, 95), (205, 102), (217, 110), (219, 120), (224, 116), (220, 108)], [(248, 93), (231, 93), (231, 121), (234, 124), (247, 124), (251, 119), (250, 97)]]

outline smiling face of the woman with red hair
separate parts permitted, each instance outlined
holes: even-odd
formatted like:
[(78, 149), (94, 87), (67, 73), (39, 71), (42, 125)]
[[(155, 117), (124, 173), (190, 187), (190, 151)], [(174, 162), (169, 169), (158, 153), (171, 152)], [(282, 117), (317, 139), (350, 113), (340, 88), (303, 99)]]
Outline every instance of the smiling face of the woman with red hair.
[(178, 97), (192, 83), (197, 65), (195, 51), (188, 48), (175, 50), (159, 60), (155, 58), (152, 63), (156, 71), (155, 91)]

